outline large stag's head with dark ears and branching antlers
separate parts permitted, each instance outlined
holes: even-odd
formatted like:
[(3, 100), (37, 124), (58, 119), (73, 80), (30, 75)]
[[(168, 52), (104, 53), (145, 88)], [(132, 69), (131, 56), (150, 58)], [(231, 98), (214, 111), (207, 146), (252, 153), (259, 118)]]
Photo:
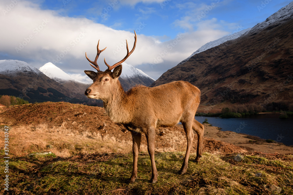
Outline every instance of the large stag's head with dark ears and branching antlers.
[[(90, 87), (88, 87), (86, 89), (86, 91), (84, 92), (84, 94), (88, 98), (101, 99), (103, 101), (106, 101), (109, 98), (109, 96), (111, 96), (111, 94), (113, 94), (113, 92), (115, 92), (115, 89), (117, 89), (117, 84), (119, 83), (118, 78), (122, 72), (121, 63), (124, 62), (130, 56), (130, 54), (132, 54), (132, 52), (135, 49), (135, 45), (136, 45), (136, 41), (137, 41), (137, 36), (136, 36), (135, 31), (134, 31), (134, 34), (135, 34), (135, 36), (134, 36), (133, 48), (129, 52), (128, 43), (126, 40), (127, 54), (121, 61), (110, 66), (106, 63), (106, 60), (104, 58), (104, 62), (106, 64), (106, 66), (108, 66), (108, 69), (105, 71), (100, 71), (100, 68), (97, 64), (97, 60), (98, 60), (100, 53), (107, 48), (106, 47), (103, 50), (99, 49), (100, 40), (99, 40), (98, 46), (97, 46), (97, 55), (96, 55), (95, 61), (89, 60), (88, 57), (86, 56), (86, 59), (90, 62), (90, 65), (97, 70), (97, 72), (94, 72), (91, 70), (84, 71), (84, 73), (86, 73), (86, 75), (88, 75), (88, 77), (90, 77), (93, 80), (93, 84)], [(111, 72), (111, 70), (113, 70), (113, 72)]]

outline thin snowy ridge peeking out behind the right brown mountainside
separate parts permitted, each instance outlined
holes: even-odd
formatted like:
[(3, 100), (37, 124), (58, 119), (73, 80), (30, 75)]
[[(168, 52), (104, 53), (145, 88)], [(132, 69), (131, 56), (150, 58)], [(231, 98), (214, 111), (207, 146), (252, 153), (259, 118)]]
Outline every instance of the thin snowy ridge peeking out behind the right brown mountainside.
[(239, 32), (236, 32), (234, 34), (230, 34), (230, 35), (227, 35), (225, 37), (219, 38), (217, 40), (208, 42), (207, 44), (204, 44), (203, 46), (201, 46), (200, 49), (197, 49), (195, 52), (193, 52), (193, 54), (191, 54), (191, 56), (189, 56), (185, 60), (181, 61), (178, 65), (183, 64), (184, 62), (188, 61), (195, 54), (198, 54), (198, 53), (200, 53), (202, 51), (205, 51), (207, 49), (210, 49), (210, 48), (213, 48), (215, 46), (218, 46), (218, 45), (220, 45), (220, 44), (222, 44), (222, 43), (224, 43), (226, 41), (237, 39), (238, 37), (240, 37), (241, 35), (243, 35), (244, 33), (248, 32), (248, 31), (250, 31), (251, 29), (252, 28), (247, 28), (247, 29), (241, 30)]

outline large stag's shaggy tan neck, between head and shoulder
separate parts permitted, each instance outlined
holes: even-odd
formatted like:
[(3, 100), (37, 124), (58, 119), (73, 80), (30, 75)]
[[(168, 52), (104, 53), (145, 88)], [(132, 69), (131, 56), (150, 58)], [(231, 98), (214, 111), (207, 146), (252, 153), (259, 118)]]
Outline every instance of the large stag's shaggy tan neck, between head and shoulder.
[(104, 108), (113, 122), (127, 124), (132, 118), (132, 103), (119, 81), (110, 99), (104, 101)]

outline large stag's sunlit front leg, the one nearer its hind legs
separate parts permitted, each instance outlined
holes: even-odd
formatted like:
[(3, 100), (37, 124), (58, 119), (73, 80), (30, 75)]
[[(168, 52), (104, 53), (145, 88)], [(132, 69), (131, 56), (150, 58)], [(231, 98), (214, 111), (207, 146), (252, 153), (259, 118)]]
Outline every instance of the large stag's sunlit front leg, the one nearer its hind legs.
[(156, 183), (158, 181), (158, 172), (155, 163), (155, 128), (150, 128), (146, 133), (147, 138), (147, 150), (151, 158), (151, 180), (150, 183)]

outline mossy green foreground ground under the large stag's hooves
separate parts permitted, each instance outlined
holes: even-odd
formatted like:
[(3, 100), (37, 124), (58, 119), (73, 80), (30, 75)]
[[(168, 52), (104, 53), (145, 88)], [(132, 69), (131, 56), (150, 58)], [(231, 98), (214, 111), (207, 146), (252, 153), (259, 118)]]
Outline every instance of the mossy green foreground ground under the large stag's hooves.
[[(148, 153), (139, 153), (138, 178), (133, 184), (127, 183), (132, 172), (131, 153), (76, 154), (69, 158), (12, 156), (9, 191), (19, 194), (269, 194), (263, 184), (275, 184), (282, 187), (281, 194), (293, 193), (293, 184), (289, 182), (292, 171), (280, 169), (292, 168), (293, 156), (276, 159), (246, 155), (243, 161), (235, 163), (235, 154), (203, 153), (201, 162), (193, 163), (196, 154), (192, 153), (187, 172), (178, 175), (184, 155), (184, 152), (156, 153), (159, 176), (155, 184), (148, 183), (151, 176)], [(0, 163), (1, 172), (3, 164)], [(3, 193), (1, 189), (0, 194)]]

